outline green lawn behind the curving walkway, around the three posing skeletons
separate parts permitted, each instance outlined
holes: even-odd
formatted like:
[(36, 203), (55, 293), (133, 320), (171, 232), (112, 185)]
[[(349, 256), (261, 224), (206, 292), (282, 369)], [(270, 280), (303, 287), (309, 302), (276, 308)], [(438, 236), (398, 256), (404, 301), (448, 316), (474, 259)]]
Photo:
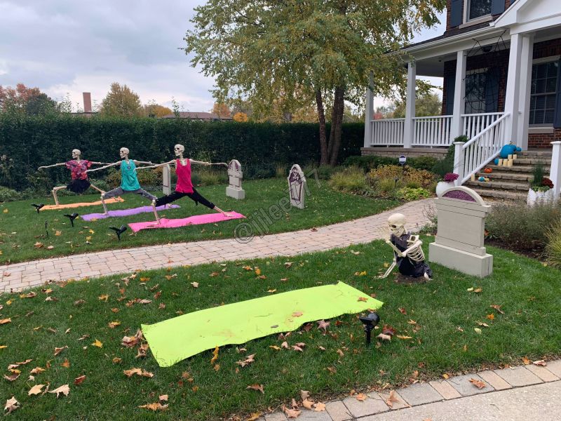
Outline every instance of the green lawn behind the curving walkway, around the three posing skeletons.
[[(227, 197), (224, 185), (200, 187), (198, 190), (219, 208), (236, 210), (248, 218), (251, 218), (252, 213), (261, 208), (267, 212), (269, 207), (278, 203), (280, 199), (288, 199), (288, 185), (285, 179), (244, 182), (243, 188), (245, 189), (246, 199), (242, 201)], [(296, 231), (297, 229), (352, 220), (374, 215), (398, 204), (396, 201), (374, 200), (363, 196), (334, 192), (325, 181), (322, 181), (321, 186), (318, 187), (314, 180), (310, 180), (309, 189), (310, 195), (306, 197), (306, 209), (291, 208), (289, 213), (268, 226), (269, 233)], [(161, 196), (161, 192), (154, 192), (154, 194)], [(125, 199), (123, 203), (108, 205), (109, 210), (135, 208), (149, 204), (146, 199), (135, 194), (126, 194), (123, 199)], [(64, 196), (60, 198), (60, 203), (98, 200), (98, 194)], [(75, 210), (44, 210), (37, 215), (34, 208), (30, 206), (31, 203), (43, 202), (49, 204), (52, 201), (53, 199), (50, 197), (49, 199), (41, 198), (0, 205), (0, 263), (21, 262), (111, 248), (223, 239), (234, 236), (234, 229), (240, 223), (240, 220), (231, 220), (220, 222), (217, 225), (150, 229), (140, 231), (137, 234), (131, 234), (132, 232), (128, 230), (122, 236), (121, 243), (118, 243), (115, 234), (108, 229), (109, 227), (120, 227), (128, 222), (154, 220), (154, 215), (141, 213), (128, 218), (107, 218), (90, 222), (76, 220), (76, 227), (72, 228), (68, 219), (63, 216), (65, 213), (100, 213), (103, 211), (102, 207), (88, 206)], [(162, 218), (187, 218), (190, 215), (213, 212), (201, 204), (195, 206), (194, 201), (189, 198), (176, 201), (175, 204), (178, 204), (181, 208), (165, 210), (159, 215)], [(8, 210), (8, 213), (4, 213), (5, 210)], [(48, 222), (48, 239), (44, 238), (46, 236), (45, 221)], [(91, 233), (90, 229), (94, 232)], [(55, 236), (57, 231), (60, 231), (60, 236)], [(91, 237), (90, 244), (86, 243), (86, 237)], [(36, 248), (34, 246), (36, 242), (43, 243), (43, 246)], [(49, 250), (49, 246), (53, 246), (53, 248)]]

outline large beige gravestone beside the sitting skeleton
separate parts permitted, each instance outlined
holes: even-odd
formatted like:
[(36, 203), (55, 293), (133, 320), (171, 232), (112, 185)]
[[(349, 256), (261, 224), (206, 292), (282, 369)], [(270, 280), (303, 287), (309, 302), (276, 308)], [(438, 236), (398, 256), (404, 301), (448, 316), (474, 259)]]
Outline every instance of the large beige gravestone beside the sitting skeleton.
[(468, 187), (451, 187), (435, 199), (438, 232), (428, 246), (428, 261), (464, 274), (492, 274), (493, 256), (483, 246), (491, 206)]

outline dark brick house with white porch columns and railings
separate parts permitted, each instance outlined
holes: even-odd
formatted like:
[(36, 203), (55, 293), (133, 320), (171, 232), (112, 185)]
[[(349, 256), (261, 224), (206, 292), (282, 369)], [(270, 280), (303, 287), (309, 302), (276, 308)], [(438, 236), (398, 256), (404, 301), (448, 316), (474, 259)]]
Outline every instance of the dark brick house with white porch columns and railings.
[[(441, 154), (466, 135), (468, 142), (456, 147), (454, 171), (459, 184), (470, 184), (513, 142), (530, 151), (523, 161), (551, 161), (559, 194), (560, 0), (447, 0), (445, 33), (400, 54), (407, 61), (405, 119), (367, 119), (363, 154)], [(442, 77), (440, 116), (415, 117), (418, 75)], [(370, 91), (366, 115), (372, 116)]]

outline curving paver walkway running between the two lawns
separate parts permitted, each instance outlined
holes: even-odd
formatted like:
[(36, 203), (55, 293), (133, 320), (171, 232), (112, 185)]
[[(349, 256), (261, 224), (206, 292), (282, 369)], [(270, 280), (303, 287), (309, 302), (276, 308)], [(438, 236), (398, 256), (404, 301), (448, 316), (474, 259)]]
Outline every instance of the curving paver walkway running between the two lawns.
[(32, 260), (0, 266), (0, 292), (18, 291), (48, 281), (106, 276), (135, 269), (158, 269), (182, 265), (199, 265), (221, 260), (264, 258), (273, 255), (296, 255), (351, 244), (369, 243), (388, 236), (387, 219), (403, 213), (407, 228), (416, 229), (428, 222), (428, 208), (433, 199), (406, 203), (384, 213), (358, 220), (327, 225), (318, 229), (256, 236), (248, 243), (236, 239), (164, 244), (98, 253), (69, 255), (62, 258)]

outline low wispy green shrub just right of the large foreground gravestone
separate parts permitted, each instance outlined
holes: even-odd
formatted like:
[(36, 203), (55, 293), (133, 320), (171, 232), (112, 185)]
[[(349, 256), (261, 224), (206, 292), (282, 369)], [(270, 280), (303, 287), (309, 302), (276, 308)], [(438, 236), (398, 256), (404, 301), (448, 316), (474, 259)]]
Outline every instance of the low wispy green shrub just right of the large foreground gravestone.
[(561, 201), (556, 203), (497, 204), (487, 218), (489, 237), (514, 250), (542, 250), (546, 234), (561, 219)]

